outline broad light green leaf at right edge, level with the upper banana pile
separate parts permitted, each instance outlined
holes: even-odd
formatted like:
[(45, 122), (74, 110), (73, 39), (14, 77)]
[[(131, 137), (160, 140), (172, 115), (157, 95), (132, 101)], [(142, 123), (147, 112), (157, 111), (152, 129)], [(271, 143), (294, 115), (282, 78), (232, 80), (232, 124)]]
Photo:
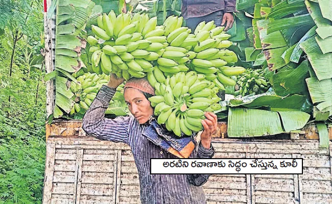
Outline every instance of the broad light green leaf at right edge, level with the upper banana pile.
[(318, 80), (332, 78), (332, 53), (322, 53), (314, 37), (307, 39), (300, 44), (307, 55)]

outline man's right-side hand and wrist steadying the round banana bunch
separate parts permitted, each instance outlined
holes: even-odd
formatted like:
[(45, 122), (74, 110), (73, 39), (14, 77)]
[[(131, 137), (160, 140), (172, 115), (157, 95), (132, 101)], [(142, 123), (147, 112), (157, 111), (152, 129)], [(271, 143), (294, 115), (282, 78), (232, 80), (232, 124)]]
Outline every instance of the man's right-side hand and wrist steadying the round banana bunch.
[(209, 149), (211, 144), (211, 136), (218, 131), (217, 115), (211, 112), (205, 112), (205, 119), (202, 120), (204, 131), (201, 134), (202, 145)]

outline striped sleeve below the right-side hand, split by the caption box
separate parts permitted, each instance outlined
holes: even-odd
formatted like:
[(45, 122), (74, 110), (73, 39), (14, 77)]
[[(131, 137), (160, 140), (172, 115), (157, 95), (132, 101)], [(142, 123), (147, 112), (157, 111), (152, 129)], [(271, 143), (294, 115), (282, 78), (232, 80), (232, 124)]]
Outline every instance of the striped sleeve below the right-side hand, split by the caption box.
[[(210, 159), (215, 155), (215, 148), (210, 145), (210, 148), (205, 148), (202, 143), (199, 143), (197, 150), (198, 159)], [(205, 184), (211, 174), (188, 174), (188, 180), (194, 186), (202, 186)]]

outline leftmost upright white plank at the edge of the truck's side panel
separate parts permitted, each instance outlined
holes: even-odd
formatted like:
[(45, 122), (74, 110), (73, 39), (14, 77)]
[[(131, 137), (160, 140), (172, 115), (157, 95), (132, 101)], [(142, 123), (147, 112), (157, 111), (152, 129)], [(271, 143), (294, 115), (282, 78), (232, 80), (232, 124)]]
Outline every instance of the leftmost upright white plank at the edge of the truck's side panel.
[(43, 204), (51, 204), (55, 162), (55, 144), (46, 142), (46, 161), (43, 189)]

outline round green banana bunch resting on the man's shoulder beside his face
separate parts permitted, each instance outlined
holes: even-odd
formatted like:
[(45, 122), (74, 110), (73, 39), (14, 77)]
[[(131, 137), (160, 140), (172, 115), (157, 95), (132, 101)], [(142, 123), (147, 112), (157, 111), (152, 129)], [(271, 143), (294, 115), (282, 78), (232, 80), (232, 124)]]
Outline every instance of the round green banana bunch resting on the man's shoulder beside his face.
[(165, 77), (156, 67), (153, 72), (148, 72), (147, 78), (155, 88), (156, 95), (149, 100), (158, 116), (157, 122), (165, 124), (167, 130), (178, 137), (203, 130), (204, 111), (221, 108), (215, 84), (195, 71), (180, 71)]

